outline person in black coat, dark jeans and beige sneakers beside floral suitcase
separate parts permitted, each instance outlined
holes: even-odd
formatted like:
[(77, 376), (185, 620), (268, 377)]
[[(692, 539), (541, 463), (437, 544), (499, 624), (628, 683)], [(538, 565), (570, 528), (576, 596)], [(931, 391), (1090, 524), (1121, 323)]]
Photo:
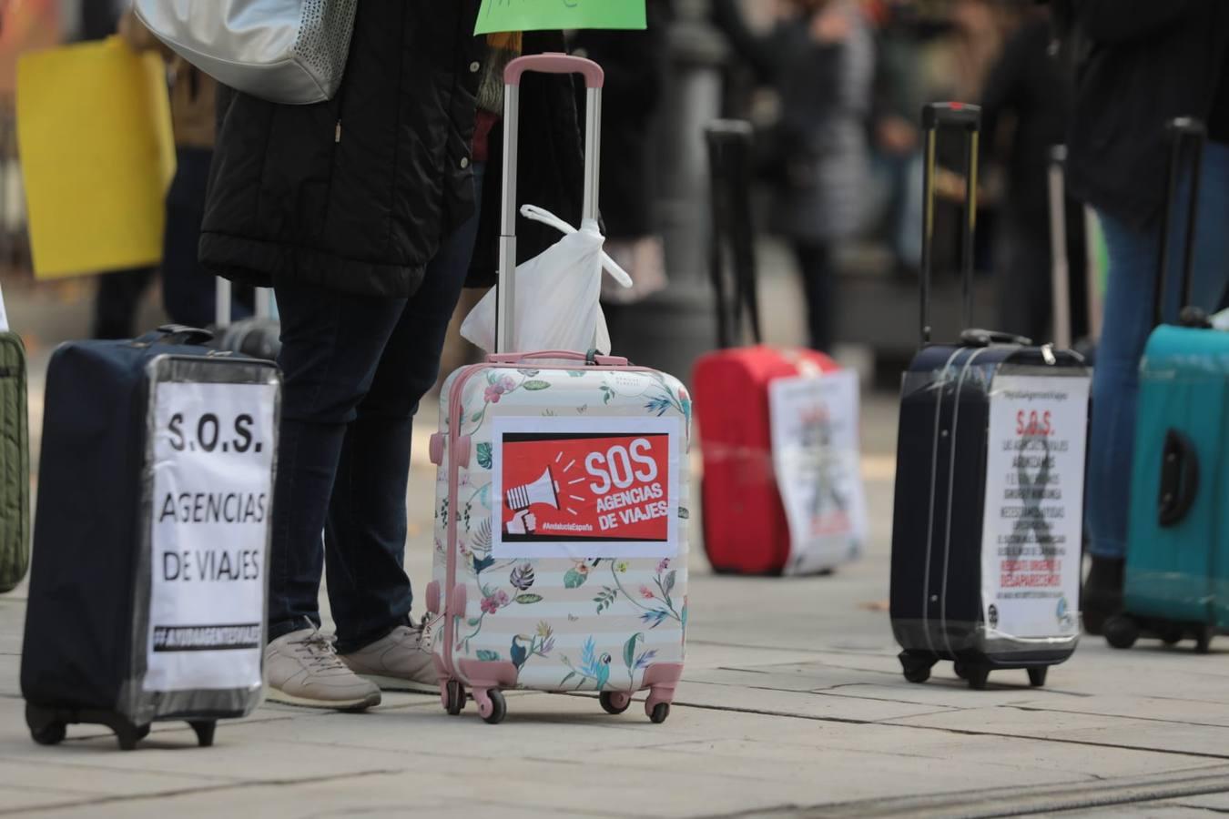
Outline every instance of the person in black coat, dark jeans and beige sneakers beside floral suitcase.
[[(273, 700), (356, 710), (380, 701), (379, 686), (439, 690), (403, 567), (413, 416), (467, 274), (489, 282), (495, 271), (503, 69), (563, 45), (559, 34), (474, 38), (477, 12), (478, 0), (363, 0), (332, 101), (220, 90), (202, 262), (272, 284), (281, 314)], [(533, 79), (524, 195), (578, 220), (573, 82)], [(538, 243), (525, 231), (519, 253)], [(322, 572), (336, 648), (320, 631)]]

